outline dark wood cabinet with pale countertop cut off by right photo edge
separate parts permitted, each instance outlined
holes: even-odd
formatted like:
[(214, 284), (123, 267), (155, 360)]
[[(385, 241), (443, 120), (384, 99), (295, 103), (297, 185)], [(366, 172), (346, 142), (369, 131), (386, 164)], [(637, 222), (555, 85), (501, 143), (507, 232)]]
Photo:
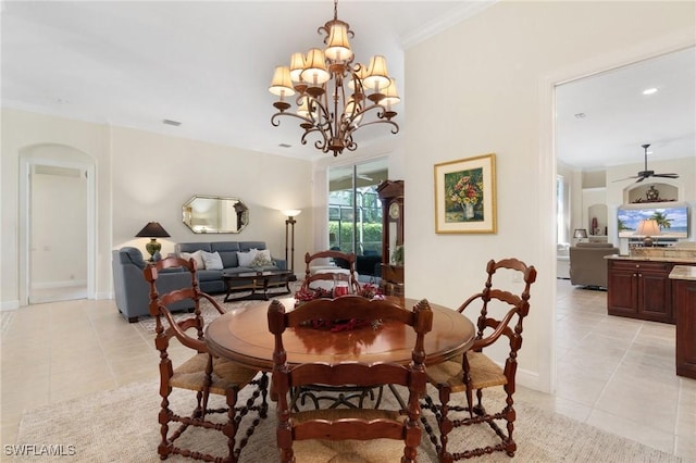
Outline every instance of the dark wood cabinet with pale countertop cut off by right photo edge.
[(676, 374), (696, 379), (696, 266), (675, 265), (670, 280), (676, 318)]

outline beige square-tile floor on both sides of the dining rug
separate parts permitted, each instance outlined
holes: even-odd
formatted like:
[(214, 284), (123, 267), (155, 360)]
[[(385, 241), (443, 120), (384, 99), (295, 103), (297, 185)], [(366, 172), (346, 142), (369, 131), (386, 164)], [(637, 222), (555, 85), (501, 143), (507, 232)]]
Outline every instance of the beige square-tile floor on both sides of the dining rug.
[[(674, 326), (608, 316), (606, 296), (558, 280), (557, 391), (518, 387), (517, 400), (696, 461), (696, 380), (674, 374)], [(113, 301), (2, 318), (2, 445), (14, 443), (25, 409), (158, 376), (151, 335), (124, 323)]]

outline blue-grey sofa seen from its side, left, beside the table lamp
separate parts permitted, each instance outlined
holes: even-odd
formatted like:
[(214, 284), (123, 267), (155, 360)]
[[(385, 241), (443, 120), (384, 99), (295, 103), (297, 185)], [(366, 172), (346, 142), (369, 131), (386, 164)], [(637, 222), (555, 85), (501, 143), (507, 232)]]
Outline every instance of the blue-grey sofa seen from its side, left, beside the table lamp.
[[(145, 280), (142, 271), (147, 262), (138, 248), (121, 248), (111, 252), (111, 268), (113, 271), (113, 291), (116, 306), (129, 322), (138, 321), (139, 316), (150, 315), (150, 285)], [(160, 273), (157, 280), (158, 291), (169, 292), (191, 286), (191, 277), (183, 268), (166, 268)], [(194, 301), (188, 299), (175, 302), (171, 311), (194, 309)]]

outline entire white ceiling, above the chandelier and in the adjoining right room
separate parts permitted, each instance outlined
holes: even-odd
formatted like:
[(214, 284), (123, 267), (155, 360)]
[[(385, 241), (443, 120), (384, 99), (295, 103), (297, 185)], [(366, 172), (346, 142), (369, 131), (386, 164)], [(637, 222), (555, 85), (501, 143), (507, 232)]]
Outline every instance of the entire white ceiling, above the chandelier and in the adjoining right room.
[[(403, 50), (495, 1), (341, 0), (338, 17), (356, 34), (357, 61), (387, 57), (403, 93)], [(290, 53), (321, 47), (316, 28), (332, 16), (328, 0), (5, 0), (2, 105), (315, 159), (295, 121), (271, 126), (268, 86)], [(691, 49), (559, 87), (559, 159), (585, 168), (642, 162), (645, 142), (656, 159), (696, 155), (695, 57)], [(644, 97), (646, 87), (659, 91)], [(362, 152), (395, 139), (386, 126), (356, 134)]]

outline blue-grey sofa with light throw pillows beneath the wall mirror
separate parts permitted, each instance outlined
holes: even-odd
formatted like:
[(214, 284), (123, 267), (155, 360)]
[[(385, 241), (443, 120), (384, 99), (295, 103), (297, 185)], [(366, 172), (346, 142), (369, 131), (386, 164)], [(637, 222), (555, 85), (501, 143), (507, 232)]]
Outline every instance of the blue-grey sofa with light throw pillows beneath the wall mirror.
[[(237, 258), (237, 252), (249, 252), (251, 249), (265, 250), (264, 241), (211, 241), (211, 242), (179, 242), (176, 245), (176, 255), (182, 256), (182, 253), (192, 254), (196, 251), (217, 252), (222, 259), (222, 270), (208, 270), (201, 268), (199, 264), (198, 271), (198, 284), (203, 292), (214, 295), (219, 292), (225, 292), (225, 283), (222, 279), (224, 273), (245, 273), (253, 272), (254, 268), (249, 266), (240, 266)], [(273, 264), (264, 265), (263, 270), (287, 270), (287, 264), (284, 259), (276, 259), (272, 256)], [(271, 279), (273, 283), (273, 279)], [(239, 284), (240, 287), (244, 283)]]

